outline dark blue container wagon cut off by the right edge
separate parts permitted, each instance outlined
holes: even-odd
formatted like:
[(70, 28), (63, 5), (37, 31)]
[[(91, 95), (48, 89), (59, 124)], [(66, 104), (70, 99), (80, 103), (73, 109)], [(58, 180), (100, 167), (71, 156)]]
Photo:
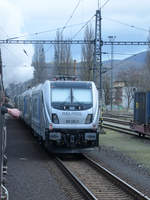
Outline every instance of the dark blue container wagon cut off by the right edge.
[(130, 126), (139, 135), (150, 135), (150, 92), (135, 93), (134, 118)]

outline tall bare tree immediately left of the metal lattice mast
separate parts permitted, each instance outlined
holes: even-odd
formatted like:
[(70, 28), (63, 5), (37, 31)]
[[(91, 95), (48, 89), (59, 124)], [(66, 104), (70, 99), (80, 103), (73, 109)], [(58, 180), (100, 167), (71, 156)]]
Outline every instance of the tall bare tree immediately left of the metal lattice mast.
[[(93, 40), (94, 31), (91, 25), (86, 26), (84, 32), (84, 40)], [(93, 53), (94, 46), (93, 44), (83, 44), (81, 52), (81, 60), (83, 66), (82, 78), (83, 80), (92, 80), (92, 67), (93, 67)]]

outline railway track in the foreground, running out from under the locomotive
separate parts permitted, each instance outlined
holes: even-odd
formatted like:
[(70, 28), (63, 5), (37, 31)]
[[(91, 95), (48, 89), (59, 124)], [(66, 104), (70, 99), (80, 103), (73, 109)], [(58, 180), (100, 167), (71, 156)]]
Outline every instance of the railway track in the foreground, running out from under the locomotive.
[(56, 162), (86, 200), (149, 199), (87, 156), (78, 160), (56, 158)]

